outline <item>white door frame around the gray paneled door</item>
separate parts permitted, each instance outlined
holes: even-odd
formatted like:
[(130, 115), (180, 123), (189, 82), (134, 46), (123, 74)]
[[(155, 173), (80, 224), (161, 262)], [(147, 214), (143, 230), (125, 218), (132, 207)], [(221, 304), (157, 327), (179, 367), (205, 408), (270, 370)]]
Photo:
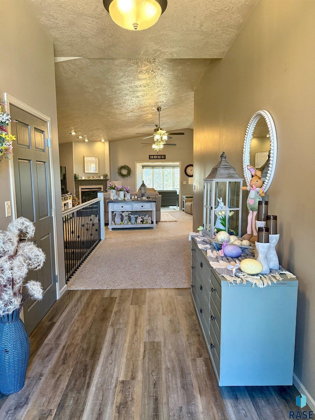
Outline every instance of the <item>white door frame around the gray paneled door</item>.
[[(47, 115), (37, 111), (36, 109), (32, 108), (32, 106), (28, 105), (25, 102), (22, 102), (16, 97), (8, 93), (4, 93), (4, 101), (5, 101), (5, 110), (10, 114), (10, 104), (21, 108), (23, 111), (28, 112), (29, 114), (34, 115), (37, 118), (45, 121), (47, 123), (48, 128), (48, 138), (51, 139), (51, 118), (47, 117)], [(60, 278), (59, 273), (59, 261), (58, 261), (58, 243), (57, 243), (57, 223), (56, 223), (56, 211), (55, 211), (55, 186), (54, 186), (54, 167), (53, 167), (53, 155), (52, 155), (52, 146), (48, 147), (49, 151), (49, 165), (50, 165), (50, 187), (51, 187), (51, 197), (52, 197), (52, 218), (53, 218), (53, 228), (54, 228), (54, 251), (55, 251), (55, 272), (58, 274), (58, 278)], [(10, 174), (10, 187), (11, 187), (11, 201), (12, 201), (12, 219), (16, 219), (17, 217), (17, 206), (16, 206), (16, 192), (15, 192), (15, 179), (14, 179), (14, 163), (13, 159), (9, 161), (9, 174)], [(56, 287), (56, 299), (60, 298), (60, 290), (59, 290), (59, 282)], [(23, 311), (23, 308), (22, 308)], [(21, 313), (22, 314), (22, 313)]]

